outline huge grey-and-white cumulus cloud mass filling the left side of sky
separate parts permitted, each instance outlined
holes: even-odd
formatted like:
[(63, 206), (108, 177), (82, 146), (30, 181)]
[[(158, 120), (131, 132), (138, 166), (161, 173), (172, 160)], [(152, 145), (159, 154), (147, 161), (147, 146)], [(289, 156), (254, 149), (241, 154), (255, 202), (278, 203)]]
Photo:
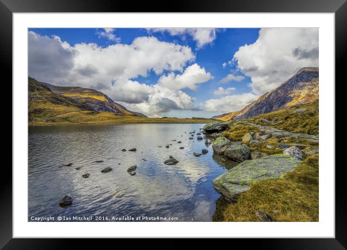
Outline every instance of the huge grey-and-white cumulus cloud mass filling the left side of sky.
[[(199, 109), (194, 106), (194, 98), (181, 89), (195, 90), (197, 84), (211, 78), (196, 63), (187, 67), (195, 60), (188, 46), (161, 42), (155, 37), (138, 37), (130, 45), (108, 47), (84, 43), (71, 46), (59, 37), (33, 31), (28, 32), (28, 38), (29, 76), (59, 86), (93, 88), (129, 110), (150, 116), (175, 109)], [(172, 72), (162, 75), (154, 85), (133, 79), (147, 77), (150, 71), (157, 75)]]

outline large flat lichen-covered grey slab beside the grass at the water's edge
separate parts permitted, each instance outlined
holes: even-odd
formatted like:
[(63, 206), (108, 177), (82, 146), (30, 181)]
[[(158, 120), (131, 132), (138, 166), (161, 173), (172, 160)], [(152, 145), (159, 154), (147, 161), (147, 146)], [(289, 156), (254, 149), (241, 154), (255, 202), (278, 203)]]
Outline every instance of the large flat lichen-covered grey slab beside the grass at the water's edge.
[(248, 191), (253, 181), (282, 178), (300, 164), (295, 157), (277, 154), (255, 160), (245, 160), (213, 180), (213, 187), (228, 201), (237, 200), (239, 194)]

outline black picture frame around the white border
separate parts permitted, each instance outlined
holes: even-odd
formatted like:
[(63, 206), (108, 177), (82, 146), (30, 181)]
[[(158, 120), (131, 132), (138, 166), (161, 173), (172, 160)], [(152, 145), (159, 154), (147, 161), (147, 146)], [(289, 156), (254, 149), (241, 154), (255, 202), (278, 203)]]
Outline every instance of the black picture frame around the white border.
[[(335, 81), (344, 83), (347, 45), (347, 0), (177, 0), (170, 12), (280, 12), (335, 13)], [(161, 6), (161, 8), (158, 6)], [(117, 0), (0, 0), (0, 36), (2, 76), (12, 82), (12, 15), (31, 12), (168, 12), (164, 2)], [(2, 78), (3, 79), (3, 78)], [(333, 87), (334, 83), (331, 83)], [(335, 85), (336, 86), (336, 85)], [(336, 98), (337, 99), (337, 98)], [(338, 126), (335, 126), (338, 129)], [(343, 131), (343, 130), (340, 130)], [(331, 145), (334, 146), (334, 145)], [(334, 159), (332, 159), (334, 162)], [(333, 170), (333, 164), (330, 167)], [(3, 249), (62, 249), (74, 239), (18, 239), (12, 237), (12, 171), (2, 166), (0, 185), (0, 247)], [(346, 249), (347, 198), (344, 164), (335, 168), (335, 238), (247, 239), (257, 249)], [(242, 239), (233, 239), (233, 246)], [(68, 241), (68, 242), (66, 242)], [(89, 240), (79, 240), (79, 247)], [(223, 244), (223, 243), (222, 243)]]

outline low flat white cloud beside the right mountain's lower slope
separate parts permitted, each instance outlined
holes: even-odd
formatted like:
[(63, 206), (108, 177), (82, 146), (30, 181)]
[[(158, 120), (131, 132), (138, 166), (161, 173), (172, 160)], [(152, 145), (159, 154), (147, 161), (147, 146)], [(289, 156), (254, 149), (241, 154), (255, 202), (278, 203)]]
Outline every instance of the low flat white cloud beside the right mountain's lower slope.
[(215, 112), (232, 112), (243, 109), (258, 98), (252, 93), (227, 95), (220, 99), (209, 99), (204, 103), (204, 110)]

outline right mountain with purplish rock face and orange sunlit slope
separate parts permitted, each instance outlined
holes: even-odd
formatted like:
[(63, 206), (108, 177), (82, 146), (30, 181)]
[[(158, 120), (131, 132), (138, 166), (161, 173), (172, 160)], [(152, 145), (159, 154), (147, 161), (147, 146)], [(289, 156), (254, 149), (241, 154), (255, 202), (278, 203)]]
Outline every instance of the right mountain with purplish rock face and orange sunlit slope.
[(245, 108), (213, 116), (214, 119), (229, 121), (250, 118), (259, 114), (285, 109), (297, 104), (306, 104), (319, 98), (319, 68), (305, 67), (284, 81), (276, 89), (260, 96)]

